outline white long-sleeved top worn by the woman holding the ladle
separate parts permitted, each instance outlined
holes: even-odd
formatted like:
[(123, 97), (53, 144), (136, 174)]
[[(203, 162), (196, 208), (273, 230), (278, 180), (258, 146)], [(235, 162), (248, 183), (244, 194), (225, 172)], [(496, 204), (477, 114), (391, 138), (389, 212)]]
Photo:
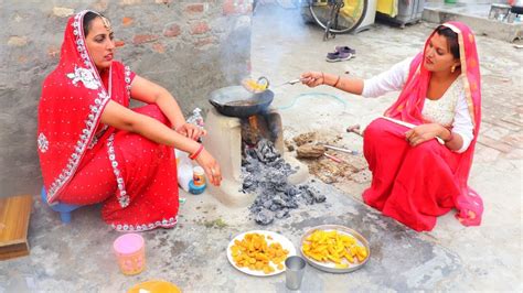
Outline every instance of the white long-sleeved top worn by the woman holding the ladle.
[[(395, 64), (391, 69), (365, 79), (362, 96), (375, 98), (388, 91), (401, 90), (408, 78), (412, 61), (413, 58), (406, 58)], [(467, 105), (462, 78), (462, 76), (459, 76), (441, 98), (437, 100), (426, 98), (421, 109), (421, 115), (427, 121), (444, 127), (452, 127), (452, 132), (458, 133), (463, 139), (463, 145), (456, 151), (458, 153), (465, 152), (469, 148), (474, 129)]]

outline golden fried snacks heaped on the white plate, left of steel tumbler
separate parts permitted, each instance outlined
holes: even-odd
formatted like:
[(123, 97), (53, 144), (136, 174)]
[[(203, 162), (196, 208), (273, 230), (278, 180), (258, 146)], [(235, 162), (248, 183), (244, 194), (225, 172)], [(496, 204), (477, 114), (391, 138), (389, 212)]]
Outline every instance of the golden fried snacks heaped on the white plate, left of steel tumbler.
[(246, 234), (244, 239), (234, 240), (231, 253), (234, 263), (238, 268), (248, 268), (269, 274), (275, 272), (273, 264), (278, 270), (284, 269), (282, 262), (289, 254), (289, 251), (284, 249), (279, 242), (268, 245), (264, 235)]

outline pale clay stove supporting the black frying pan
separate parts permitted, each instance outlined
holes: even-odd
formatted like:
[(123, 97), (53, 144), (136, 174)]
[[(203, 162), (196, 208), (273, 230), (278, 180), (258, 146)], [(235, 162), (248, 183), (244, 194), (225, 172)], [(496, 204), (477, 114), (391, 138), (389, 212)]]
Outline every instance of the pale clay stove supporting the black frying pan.
[[(236, 118), (221, 115), (212, 108), (205, 119), (205, 129), (207, 135), (203, 144), (220, 163), (223, 177), (221, 186), (209, 185), (209, 191), (226, 206), (245, 207), (256, 198), (256, 194), (242, 192), (242, 160), (249, 149), (253, 151), (258, 143), (266, 140), (274, 143), (274, 149), (296, 171), (288, 177), (290, 184), (300, 184), (308, 178), (307, 165), (285, 152), (281, 116), (275, 109), (269, 108), (263, 113), (247, 118)], [(270, 151), (264, 153), (266, 148), (256, 149), (260, 160), (264, 160), (265, 155), (274, 155)]]

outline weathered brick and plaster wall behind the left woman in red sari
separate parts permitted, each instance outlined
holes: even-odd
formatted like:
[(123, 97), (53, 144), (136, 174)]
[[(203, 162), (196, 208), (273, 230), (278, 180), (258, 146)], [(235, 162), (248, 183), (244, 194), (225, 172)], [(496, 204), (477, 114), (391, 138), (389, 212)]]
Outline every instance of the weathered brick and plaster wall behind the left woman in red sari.
[(238, 84), (250, 59), (249, 0), (17, 1), (0, 4), (0, 197), (36, 194), (36, 108), (67, 18), (111, 20), (116, 58), (170, 90), (188, 113), (213, 89)]

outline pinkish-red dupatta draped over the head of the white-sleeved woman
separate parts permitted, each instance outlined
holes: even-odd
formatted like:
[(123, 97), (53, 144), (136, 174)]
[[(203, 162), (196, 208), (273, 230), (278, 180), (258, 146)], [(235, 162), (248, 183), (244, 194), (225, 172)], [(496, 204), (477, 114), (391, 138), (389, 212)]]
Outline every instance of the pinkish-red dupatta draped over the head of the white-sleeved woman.
[[(461, 191), (460, 194), (453, 198), (455, 205), (458, 209), (456, 217), (465, 226), (478, 226), (481, 224), (483, 202), (467, 183), (481, 122), (481, 79), (478, 52), (476, 48), (474, 35), (467, 25), (460, 22), (447, 22), (442, 25), (451, 29), (458, 34), (461, 76), (466, 77), (462, 78), (465, 95), (469, 106), (470, 117), (472, 118), (474, 126), (473, 140), (467, 151), (459, 155), (458, 167), (455, 172), (456, 182)], [(427, 39), (425, 48), (435, 33), (436, 31)], [(385, 111), (385, 116), (414, 124), (424, 123), (421, 109), (424, 107), (430, 80), (430, 72), (423, 66), (425, 52), (426, 50), (413, 59), (405, 87), (399, 94), (396, 102)]]

